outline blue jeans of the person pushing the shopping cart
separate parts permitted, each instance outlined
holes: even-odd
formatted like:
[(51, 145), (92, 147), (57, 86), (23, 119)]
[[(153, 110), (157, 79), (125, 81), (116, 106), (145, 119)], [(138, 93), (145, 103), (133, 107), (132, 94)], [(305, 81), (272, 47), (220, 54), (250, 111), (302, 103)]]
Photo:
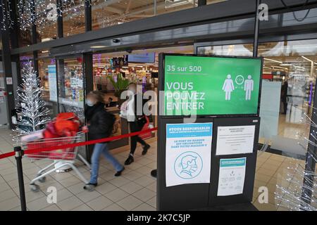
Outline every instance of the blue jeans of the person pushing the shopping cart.
[(116, 158), (109, 153), (108, 144), (107, 143), (97, 143), (94, 145), (94, 151), (92, 153), (92, 171), (90, 173), (90, 183), (97, 184), (98, 181), (98, 172), (99, 172), (99, 159), (100, 155), (103, 154), (106, 160), (111, 162), (113, 167), (115, 167), (116, 171), (120, 171), (123, 169), (123, 165), (116, 160)]

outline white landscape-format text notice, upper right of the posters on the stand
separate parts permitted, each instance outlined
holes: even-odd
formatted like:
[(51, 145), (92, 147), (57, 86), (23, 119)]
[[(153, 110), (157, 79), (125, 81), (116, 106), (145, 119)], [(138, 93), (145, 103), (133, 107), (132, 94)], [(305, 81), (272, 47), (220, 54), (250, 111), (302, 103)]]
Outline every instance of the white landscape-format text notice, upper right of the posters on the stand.
[(253, 153), (255, 125), (218, 127), (216, 155)]

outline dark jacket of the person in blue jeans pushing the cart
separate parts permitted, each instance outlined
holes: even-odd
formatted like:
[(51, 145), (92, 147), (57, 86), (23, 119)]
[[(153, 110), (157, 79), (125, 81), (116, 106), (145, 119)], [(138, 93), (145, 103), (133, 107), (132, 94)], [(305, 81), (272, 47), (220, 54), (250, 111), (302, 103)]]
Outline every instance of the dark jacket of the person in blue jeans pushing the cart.
[(89, 140), (104, 139), (111, 136), (111, 131), (116, 118), (113, 114), (106, 111), (104, 103), (88, 106), (85, 110), (85, 116), (89, 124)]

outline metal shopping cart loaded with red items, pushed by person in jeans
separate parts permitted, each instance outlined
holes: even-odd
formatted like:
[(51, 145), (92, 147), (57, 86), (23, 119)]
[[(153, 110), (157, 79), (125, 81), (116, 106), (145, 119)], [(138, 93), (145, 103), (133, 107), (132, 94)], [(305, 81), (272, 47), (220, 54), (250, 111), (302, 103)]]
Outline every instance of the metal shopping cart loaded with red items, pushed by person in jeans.
[[(51, 146), (63, 146), (70, 143), (80, 142), (82, 140), (83, 134), (83, 132), (78, 132), (75, 136), (25, 141), (21, 143), (21, 146), (25, 150), (40, 149)], [(85, 160), (85, 158), (82, 157), (82, 155), (78, 153), (77, 147), (61, 148), (58, 150), (43, 151), (39, 153), (30, 153), (25, 154), (24, 157), (31, 160), (53, 160), (50, 165), (44, 167), (43, 169), (39, 170), (39, 172), (37, 172), (37, 176), (35, 177), (35, 179), (32, 179), (32, 181), (30, 182), (30, 188), (32, 191), (39, 191), (39, 185), (35, 184), (35, 181), (44, 183), (46, 181), (47, 175), (65, 167), (72, 168), (85, 184), (88, 183), (87, 179), (85, 179), (82, 173), (75, 166), (75, 161), (77, 160), (77, 158), (79, 158), (90, 169), (89, 163), (87, 162), (87, 160)]]

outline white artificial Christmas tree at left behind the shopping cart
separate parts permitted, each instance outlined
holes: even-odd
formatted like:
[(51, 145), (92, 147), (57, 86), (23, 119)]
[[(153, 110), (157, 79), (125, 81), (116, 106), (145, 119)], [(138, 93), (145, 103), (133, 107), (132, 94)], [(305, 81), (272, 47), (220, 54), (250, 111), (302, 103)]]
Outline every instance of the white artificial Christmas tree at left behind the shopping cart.
[(42, 98), (42, 87), (39, 77), (30, 61), (22, 69), (22, 84), (18, 87), (18, 120), (13, 129), (13, 140), (18, 141), (20, 136), (30, 134), (33, 131), (43, 129), (44, 124), (49, 122), (49, 109), (45, 107)]

